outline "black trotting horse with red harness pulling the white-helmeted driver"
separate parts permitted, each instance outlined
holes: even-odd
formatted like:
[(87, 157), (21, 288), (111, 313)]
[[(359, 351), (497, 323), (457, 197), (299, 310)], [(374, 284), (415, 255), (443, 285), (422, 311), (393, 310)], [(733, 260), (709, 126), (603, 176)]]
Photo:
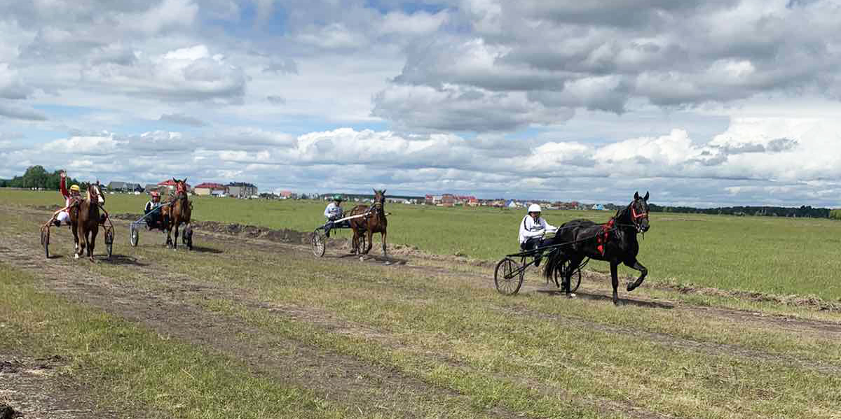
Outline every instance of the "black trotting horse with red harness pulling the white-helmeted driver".
[(569, 260), (568, 268), (563, 272), (563, 290), (569, 296), (569, 280), (584, 258), (604, 260), (611, 263), (611, 284), (613, 285), (613, 304), (619, 303), (616, 287), (619, 278), (616, 271), (619, 264), (640, 271), (639, 278), (628, 284), (627, 291), (633, 291), (643, 284), (648, 270), (637, 260), (639, 242), (637, 233), (648, 231), (648, 192), (640, 197), (634, 193), (633, 201), (627, 207), (616, 212), (606, 224), (596, 224), (590, 220), (573, 220), (563, 223), (558, 233), (548, 244), (567, 244), (560, 246), (550, 254), (543, 275), (551, 280), (558, 264)]

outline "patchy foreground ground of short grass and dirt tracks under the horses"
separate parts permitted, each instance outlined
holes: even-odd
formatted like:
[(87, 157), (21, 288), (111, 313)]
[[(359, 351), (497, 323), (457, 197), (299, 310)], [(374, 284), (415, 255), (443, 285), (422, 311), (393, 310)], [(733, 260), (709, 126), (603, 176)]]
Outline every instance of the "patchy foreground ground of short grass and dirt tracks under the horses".
[(61, 379), (116, 417), (841, 415), (837, 312), (653, 301), (644, 285), (624, 306), (500, 296), (486, 273), (200, 232), (193, 252), (120, 240), (111, 261), (46, 260), (27, 211), (0, 212), (0, 354), (71, 359)]

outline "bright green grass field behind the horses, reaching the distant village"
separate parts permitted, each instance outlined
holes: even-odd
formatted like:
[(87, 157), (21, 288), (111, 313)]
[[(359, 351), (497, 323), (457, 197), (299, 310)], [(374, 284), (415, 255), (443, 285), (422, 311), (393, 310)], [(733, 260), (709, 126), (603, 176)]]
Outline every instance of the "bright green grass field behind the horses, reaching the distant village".
[[(630, 198), (629, 198), (630, 199)], [(141, 212), (145, 196), (109, 195), (110, 212)], [(323, 223), (324, 202), (193, 198), (193, 217), (222, 223), (310, 231)], [(0, 190), (0, 202), (42, 206), (61, 202), (57, 192)], [(346, 207), (350, 205), (346, 204)], [(433, 254), (497, 260), (517, 249), (521, 211), (497, 208), (387, 206), (389, 243)], [(612, 212), (544, 212), (558, 225), (586, 217), (605, 222)], [(841, 223), (826, 219), (727, 217), (653, 213), (641, 240), (648, 280), (841, 300)], [(117, 232), (120, 236), (120, 232)], [(375, 242), (378, 241), (375, 235)], [(376, 246), (375, 246), (376, 249)], [(604, 263), (590, 269), (605, 272)], [(636, 271), (620, 268), (620, 275)]]

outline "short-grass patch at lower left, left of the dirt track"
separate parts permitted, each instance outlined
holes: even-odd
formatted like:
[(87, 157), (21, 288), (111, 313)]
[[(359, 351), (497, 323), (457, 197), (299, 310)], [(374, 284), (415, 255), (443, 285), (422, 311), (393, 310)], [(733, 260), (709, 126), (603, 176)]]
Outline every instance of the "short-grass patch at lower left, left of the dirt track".
[(0, 348), (71, 359), (62, 380), (91, 390), (126, 416), (184, 418), (353, 417), (308, 390), (249, 374), (238, 361), (39, 291), (0, 262)]

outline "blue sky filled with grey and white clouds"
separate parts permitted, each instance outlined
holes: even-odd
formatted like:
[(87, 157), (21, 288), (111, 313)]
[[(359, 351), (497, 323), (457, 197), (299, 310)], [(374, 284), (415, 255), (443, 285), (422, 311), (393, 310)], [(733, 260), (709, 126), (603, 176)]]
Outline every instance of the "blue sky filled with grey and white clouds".
[(0, 0), (0, 178), (841, 207), (839, 0)]

